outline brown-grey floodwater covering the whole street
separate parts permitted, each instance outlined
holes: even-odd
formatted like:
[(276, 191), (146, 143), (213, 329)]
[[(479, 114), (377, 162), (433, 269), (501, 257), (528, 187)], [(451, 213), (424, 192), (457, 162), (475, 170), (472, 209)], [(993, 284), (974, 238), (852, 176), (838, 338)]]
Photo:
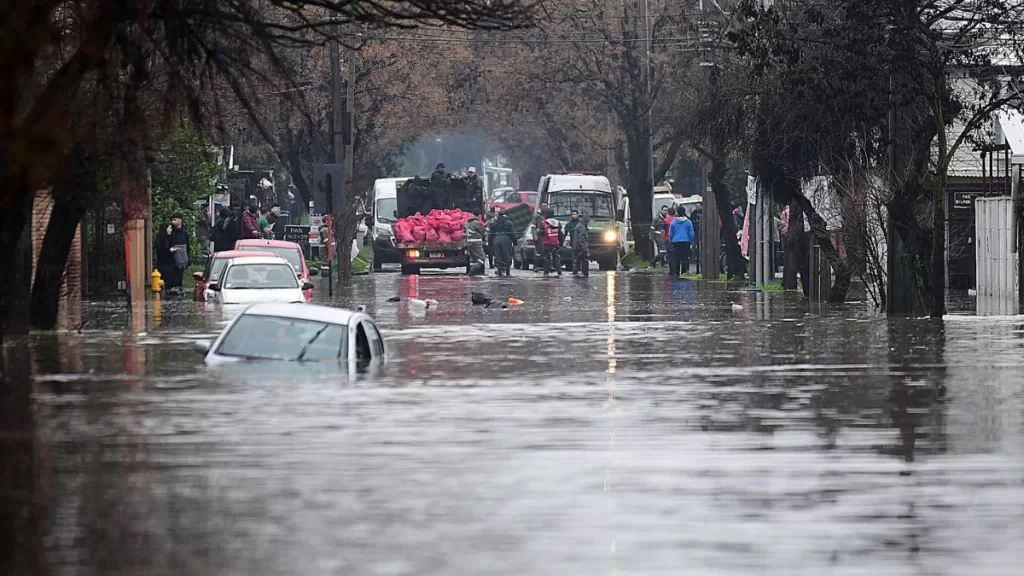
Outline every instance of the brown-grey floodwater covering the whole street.
[(640, 273), (338, 301), (377, 318), (383, 372), (208, 373), (191, 340), (230, 312), (180, 301), (9, 348), (0, 572), (1024, 573), (1024, 318)]

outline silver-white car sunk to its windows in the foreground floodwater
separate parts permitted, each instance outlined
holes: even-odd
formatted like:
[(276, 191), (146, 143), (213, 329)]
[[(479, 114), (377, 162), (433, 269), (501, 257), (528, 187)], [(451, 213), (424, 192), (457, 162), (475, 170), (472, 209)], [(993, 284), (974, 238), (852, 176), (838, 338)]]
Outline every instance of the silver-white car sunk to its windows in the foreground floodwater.
[(339, 362), (366, 370), (385, 362), (384, 340), (369, 316), (316, 304), (253, 304), (213, 342), (200, 342), (208, 365), (241, 361)]

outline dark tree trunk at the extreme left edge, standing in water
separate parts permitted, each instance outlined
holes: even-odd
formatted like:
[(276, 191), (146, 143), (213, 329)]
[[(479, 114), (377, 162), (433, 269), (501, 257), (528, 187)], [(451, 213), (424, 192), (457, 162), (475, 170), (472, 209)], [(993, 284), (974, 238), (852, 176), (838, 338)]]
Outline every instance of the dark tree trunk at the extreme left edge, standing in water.
[[(8, 265), (0, 274), (0, 345), (6, 336), (29, 333), (29, 283), (32, 275), (32, 193), (8, 183), (0, 210), (0, 246)], [(5, 370), (6, 372), (6, 370)]]

